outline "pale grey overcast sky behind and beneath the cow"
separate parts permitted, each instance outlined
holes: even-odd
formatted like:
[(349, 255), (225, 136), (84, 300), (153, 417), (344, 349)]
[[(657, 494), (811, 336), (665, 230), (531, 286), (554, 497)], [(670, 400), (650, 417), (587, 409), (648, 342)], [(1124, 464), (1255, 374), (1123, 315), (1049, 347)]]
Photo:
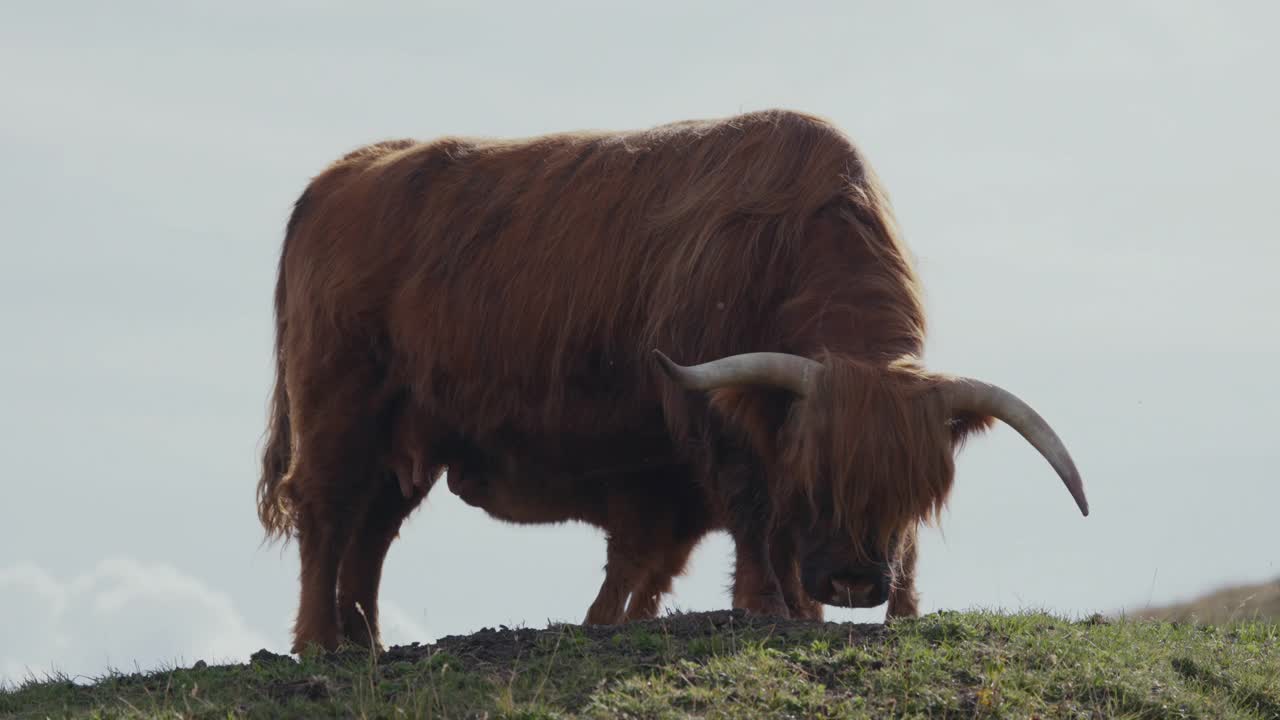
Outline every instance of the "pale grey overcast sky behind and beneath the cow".
[[(1085, 478), (1089, 518), (1010, 428), (968, 446), (924, 611), (1280, 575), (1280, 5), (765, 6), (5, 3), (0, 678), (287, 651), (297, 547), (253, 505), (270, 300), (330, 160), (771, 106), (882, 176), (931, 366), (1021, 395)], [(730, 557), (705, 541), (668, 606), (727, 607)], [(385, 639), (579, 621), (603, 564), (598, 530), (442, 483), (389, 555)]]

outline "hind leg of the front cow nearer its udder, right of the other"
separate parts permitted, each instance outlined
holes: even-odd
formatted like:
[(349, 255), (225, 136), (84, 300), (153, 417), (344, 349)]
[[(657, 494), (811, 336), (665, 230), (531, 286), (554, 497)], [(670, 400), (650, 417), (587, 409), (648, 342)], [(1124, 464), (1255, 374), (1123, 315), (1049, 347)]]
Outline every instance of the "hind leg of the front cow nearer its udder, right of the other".
[(406, 497), (398, 478), (385, 475), (369, 487), (361, 523), (351, 533), (338, 573), (338, 618), (343, 635), (351, 642), (380, 648), (378, 588), (383, 561), (401, 524), (426, 497), (439, 473), (419, 473), (421, 484), (410, 483)]

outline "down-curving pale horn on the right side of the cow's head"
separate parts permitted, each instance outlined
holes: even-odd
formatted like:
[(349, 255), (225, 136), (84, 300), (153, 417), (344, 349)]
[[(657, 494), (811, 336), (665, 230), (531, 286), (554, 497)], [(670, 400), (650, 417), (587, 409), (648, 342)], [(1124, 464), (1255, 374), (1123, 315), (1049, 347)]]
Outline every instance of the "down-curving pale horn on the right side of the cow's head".
[(1062, 484), (1075, 498), (1080, 514), (1088, 516), (1089, 501), (1084, 497), (1084, 480), (1071, 460), (1071, 454), (1039, 413), (1027, 405), (1016, 395), (1005, 388), (975, 380), (973, 378), (952, 378), (943, 387), (943, 395), (952, 410), (968, 410), (998, 418), (1018, 430), (1027, 442), (1039, 451), (1053, 466)]

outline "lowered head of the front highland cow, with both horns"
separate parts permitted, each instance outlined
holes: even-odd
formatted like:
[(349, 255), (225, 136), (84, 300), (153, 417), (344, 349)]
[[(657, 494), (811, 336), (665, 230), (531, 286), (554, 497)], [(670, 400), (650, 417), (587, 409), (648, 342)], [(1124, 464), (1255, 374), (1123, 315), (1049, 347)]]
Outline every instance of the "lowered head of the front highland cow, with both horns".
[(1089, 514), (1066, 447), (1012, 393), (969, 378), (927, 373), (913, 359), (870, 365), (751, 352), (695, 366), (655, 351), (687, 389), (785, 389), (791, 402), (767, 455), (776, 532), (794, 537), (801, 582), (814, 600), (873, 607), (888, 598), (895, 566), (919, 523), (933, 520), (955, 475), (955, 452), (1000, 419), (1053, 466)]

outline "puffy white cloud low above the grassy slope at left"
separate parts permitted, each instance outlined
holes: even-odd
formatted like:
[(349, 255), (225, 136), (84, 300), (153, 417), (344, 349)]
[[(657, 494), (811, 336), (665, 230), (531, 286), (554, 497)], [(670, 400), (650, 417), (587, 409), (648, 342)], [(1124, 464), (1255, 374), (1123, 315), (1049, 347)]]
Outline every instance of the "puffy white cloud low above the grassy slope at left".
[(164, 564), (109, 557), (60, 580), (32, 564), (0, 569), (8, 623), (0, 683), (59, 671), (243, 661), (268, 643), (230, 597)]

